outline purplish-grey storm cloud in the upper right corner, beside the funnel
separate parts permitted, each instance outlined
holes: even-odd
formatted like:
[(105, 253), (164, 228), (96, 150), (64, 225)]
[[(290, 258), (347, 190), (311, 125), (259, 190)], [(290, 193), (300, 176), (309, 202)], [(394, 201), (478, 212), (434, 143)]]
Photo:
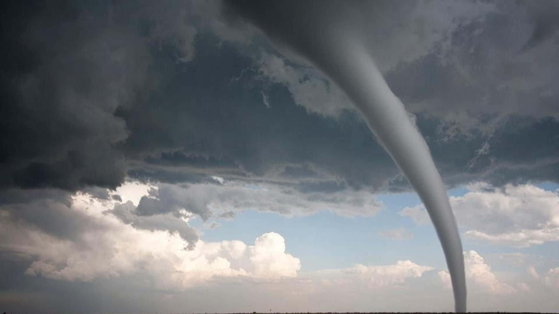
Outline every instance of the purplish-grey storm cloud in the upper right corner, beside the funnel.
[(389, 70), (387, 80), (409, 110), (467, 113), (475, 123), (459, 121), (466, 128), (484, 127), (484, 115), (557, 117), (558, 17), (554, 1), (496, 2), (428, 54)]

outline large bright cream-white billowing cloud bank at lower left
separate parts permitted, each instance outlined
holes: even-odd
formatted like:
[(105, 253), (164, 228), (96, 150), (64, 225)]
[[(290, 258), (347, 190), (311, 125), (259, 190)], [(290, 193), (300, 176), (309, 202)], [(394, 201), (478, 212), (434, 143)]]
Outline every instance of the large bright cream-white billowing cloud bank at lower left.
[[(150, 229), (138, 221), (127, 223), (108, 210), (112, 205), (112, 201), (77, 194), (70, 206), (57, 204), (58, 211), (43, 208), (42, 220), (53, 216), (60, 220), (58, 227), (26, 217), (21, 207), (2, 206), (0, 245), (26, 256), (27, 275), (92, 281), (143, 274), (158, 289), (182, 290), (221, 277), (296, 277), (301, 268), (299, 259), (286, 253), (283, 237), (274, 232), (258, 237), (250, 246), (237, 240), (204, 242), (196, 237), (186, 249), (189, 243), (181, 229), (173, 232), (172, 228)], [(186, 221), (183, 224), (188, 227)]]

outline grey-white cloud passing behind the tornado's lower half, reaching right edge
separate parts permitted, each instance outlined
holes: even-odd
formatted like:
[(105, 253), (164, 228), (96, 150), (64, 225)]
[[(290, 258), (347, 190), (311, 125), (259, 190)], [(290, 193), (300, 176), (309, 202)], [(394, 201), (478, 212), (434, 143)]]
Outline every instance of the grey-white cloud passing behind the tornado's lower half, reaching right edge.
[[(463, 196), (450, 198), (459, 226), (470, 239), (497, 245), (528, 247), (559, 241), (559, 194), (532, 184), (495, 188), (472, 184)], [(401, 216), (418, 225), (429, 223), (423, 204), (405, 207)]]

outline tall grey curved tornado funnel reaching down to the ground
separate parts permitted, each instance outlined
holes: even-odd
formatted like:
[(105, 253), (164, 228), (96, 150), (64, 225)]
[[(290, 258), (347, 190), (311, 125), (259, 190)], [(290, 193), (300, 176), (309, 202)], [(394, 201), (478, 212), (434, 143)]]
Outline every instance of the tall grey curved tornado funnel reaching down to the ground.
[(225, 4), (226, 12), (262, 30), (283, 53), (295, 53), (316, 66), (347, 94), (427, 208), (451, 274), (455, 310), (466, 312), (462, 242), (446, 188), (427, 143), (363, 40), (359, 18), (367, 18), (366, 13), (341, 1), (236, 0)]

